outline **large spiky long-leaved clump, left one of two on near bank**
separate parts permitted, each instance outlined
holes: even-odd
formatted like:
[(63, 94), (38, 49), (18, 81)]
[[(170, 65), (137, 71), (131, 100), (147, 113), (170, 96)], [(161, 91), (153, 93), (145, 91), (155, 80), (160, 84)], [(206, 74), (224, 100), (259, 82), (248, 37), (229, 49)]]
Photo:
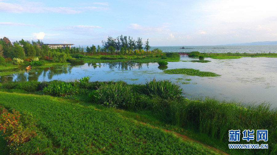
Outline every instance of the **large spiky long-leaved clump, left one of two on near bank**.
[(89, 94), (89, 97), (98, 104), (106, 107), (124, 107), (125, 100), (130, 96), (130, 87), (125, 82), (117, 82), (113, 85), (102, 85), (96, 92)]

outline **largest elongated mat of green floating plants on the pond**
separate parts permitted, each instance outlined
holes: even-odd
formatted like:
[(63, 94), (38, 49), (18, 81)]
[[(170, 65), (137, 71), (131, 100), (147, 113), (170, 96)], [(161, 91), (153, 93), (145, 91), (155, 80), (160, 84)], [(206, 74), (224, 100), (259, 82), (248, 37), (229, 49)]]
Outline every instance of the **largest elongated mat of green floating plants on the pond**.
[(216, 77), (220, 76), (218, 74), (212, 72), (203, 72), (195, 69), (190, 68), (181, 68), (181, 69), (171, 69), (171, 70), (164, 70), (166, 74), (187, 74), (191, 76), (200, 76), (200, 77)]

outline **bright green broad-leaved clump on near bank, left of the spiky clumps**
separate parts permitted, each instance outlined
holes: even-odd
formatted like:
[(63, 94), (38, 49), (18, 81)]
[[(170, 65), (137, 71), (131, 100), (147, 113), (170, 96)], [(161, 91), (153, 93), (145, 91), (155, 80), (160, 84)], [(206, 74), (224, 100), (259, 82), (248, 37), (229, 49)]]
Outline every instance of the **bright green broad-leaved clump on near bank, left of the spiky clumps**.
[(49, 95), (65, 96), (74, 92), (74, 89), (70, 83), (64, 81), (51, 81), (51, 83), (44, 87), (43, 92)]

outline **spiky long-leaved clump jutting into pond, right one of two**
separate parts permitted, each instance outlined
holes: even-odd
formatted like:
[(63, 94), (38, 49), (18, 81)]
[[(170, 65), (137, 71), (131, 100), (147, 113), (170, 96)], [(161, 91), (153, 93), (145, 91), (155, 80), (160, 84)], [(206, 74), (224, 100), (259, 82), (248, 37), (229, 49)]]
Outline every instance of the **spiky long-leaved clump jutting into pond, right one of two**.
[(156, 81), (154, 78), (152, 81), (147, 81), (143, 90), (144, 94), (151, 96), (159, 96), (161, 98), (175, 98), (180, 97), (183, 89), (180, 89), (179, 85), (175, 85), (170, 80)]

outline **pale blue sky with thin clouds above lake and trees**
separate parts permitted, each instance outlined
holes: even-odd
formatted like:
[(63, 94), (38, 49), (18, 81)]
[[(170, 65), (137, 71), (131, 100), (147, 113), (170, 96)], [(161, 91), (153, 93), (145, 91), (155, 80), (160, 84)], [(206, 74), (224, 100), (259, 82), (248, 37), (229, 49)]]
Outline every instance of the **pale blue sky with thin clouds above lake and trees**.
[(0, 38), (100, 45), (131, 36), (150, 46), (277, 41), (276, 0), (0, 0)]

